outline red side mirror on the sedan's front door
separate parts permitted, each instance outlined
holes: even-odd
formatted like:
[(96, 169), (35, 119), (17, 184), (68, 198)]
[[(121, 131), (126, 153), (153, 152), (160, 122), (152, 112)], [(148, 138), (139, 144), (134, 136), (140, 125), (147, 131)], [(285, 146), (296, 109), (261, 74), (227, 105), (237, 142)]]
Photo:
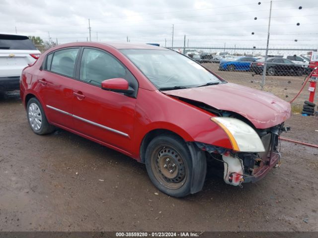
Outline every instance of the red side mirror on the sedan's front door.
[(101, 82), (101, 89), (131, 95), (135, 90), (123, 78), (111, 78)]

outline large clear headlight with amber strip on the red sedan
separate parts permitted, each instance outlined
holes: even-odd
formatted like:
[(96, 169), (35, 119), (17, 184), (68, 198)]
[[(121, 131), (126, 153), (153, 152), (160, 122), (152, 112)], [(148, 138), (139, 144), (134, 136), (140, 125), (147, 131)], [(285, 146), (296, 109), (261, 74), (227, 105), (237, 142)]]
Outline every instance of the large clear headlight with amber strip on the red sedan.
[(235, 118), (214, 117), (217, 123), (229, 136), (233, 150), (243, 152), (264, 152), (264, 145), (256, 131), (245, 122)]

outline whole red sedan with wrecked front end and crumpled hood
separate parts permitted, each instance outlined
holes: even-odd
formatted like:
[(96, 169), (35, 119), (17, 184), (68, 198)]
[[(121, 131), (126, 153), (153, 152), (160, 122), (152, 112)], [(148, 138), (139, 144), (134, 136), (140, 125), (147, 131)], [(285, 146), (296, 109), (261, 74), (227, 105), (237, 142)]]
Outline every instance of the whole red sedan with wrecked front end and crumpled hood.
[(274, 95), (150, 45), (60, 45), (24, 68), (20, 93), (36, 134), (57, 126), (124, 153), (176, 197), (202, 189), (207, 161), (226, 183), (261, 179), (290, 117)]

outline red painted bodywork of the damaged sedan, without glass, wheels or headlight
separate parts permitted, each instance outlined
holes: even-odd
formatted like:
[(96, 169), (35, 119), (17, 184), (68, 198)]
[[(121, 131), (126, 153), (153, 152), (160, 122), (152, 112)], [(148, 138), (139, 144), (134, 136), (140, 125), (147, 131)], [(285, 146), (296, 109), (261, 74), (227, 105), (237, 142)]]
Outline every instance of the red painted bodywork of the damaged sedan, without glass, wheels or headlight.
[[(137, 79), (139, 84), (137, 97), (106, 91), (75, 78), (41, 70), (40, 67), (47, 54), (66, 47), (96, 47), (113, 55)], [(191, 98), (211, 104), (215, 108), (238, 112), (255, 123), (257, 128), (279, 124), (284, 118), (289, 117), (290, 107), (282, 100), (270, 94), (266, 94), (266, 99), (264, 93), (257, 91), (257, 94), (262, 95), (259, 97), (255, 90), (230, 83), (162, 93), (119, 49), (166, 50), (149, 45), (91, 42), (71, 43), (52, 48), (22, 72), (20, 94), (24, 105), (26, 106), (26, 99), (30, 95), (35, 96), (43, 106), (50, 123), (137, 160), (141, 159), (140, 148), (143, 139), (149, 132), (157, 129), (172, 131), (185, 141), (197, 141), (233, 149), (225, 131), (210, 120), (215, 115), (173, 96)], [(261, 100), (264, 100), (264, 105), (259, 108), (262, 105)], [(226, 101), (231, 101), (232, 104)], [(255, 101), (256, 106), (253, 105), (254, 102), (251, 103), (252, 101)], [(273, 106), (269, 107), (268, 103)], [(255, 114), (253, 110), (258, 113)]]

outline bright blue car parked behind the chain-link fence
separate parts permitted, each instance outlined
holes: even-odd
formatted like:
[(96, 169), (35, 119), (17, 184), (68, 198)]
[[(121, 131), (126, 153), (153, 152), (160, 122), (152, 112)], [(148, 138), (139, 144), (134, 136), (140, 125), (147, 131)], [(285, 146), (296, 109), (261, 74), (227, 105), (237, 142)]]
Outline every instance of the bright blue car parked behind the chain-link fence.
[(238, 57), (233, 60), (221, 60), (219, 69), (228, 71), (248, 71), (250, 70), (251, 62), (255, 62), (257, 59), (253, 57)]

